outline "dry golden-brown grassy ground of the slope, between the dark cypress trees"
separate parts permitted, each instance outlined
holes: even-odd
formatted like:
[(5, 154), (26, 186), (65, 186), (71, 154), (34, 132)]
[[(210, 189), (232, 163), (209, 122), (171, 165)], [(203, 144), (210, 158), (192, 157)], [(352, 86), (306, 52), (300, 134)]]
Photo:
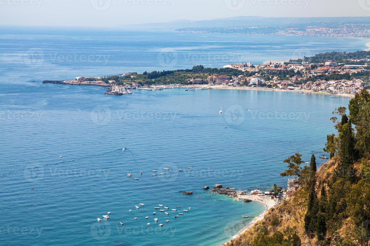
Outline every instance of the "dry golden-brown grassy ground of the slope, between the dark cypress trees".
[[(324, 163), (317, 170), (315, 191), (318, 199), (321, 198), (320, 184), (325, 184), (327, 194), (334, 194), (326, 183), (332, 183), (335, 177), (334, 170), (337, 167), (337, 158)], [(364, 164), (358, 162), (354, 166), (354, 172), (361, 174)], [(359, 176), (356, 176), (359, 178)], [(345, 191), (348, 192), (348, 191)], [(364, 191), (365, 192), (365, 191)], [(354, 194), (353, 194), (354, 195)], [(360, 194), (361, 195), (361, 194)], [(348, 197), (345, 199), (347, 200)], [(362, 246), (367, 245), (366, 240), (370, 239), (365, 234), (359, 233), (361, 228), (356, 224), (356, 219), (351, 215), (347, 202), (345, 214), (336, 222), (337, 224), (327, 225), (327, 233), (324, 240), (318, 241), (316, 235), (307, 236), (305, 231), (305, 215), (307, 213), (307, 203), (309, 191), (299, 189), (289, 200), (283, 201), (279, 207), (270, 209), (262, 221), (257, 222), (248, 231), (226, 243), (226, 246)], [(370, 205), (370, 201), (369, 201)], [(329, 209), (329, 208), (328, 208)], [(329, 212), (329, 211), (328, 211)], [(327, 216), (331, 216), (329, 213)], [(330, 218), (327, 218), (330, 221)]]

